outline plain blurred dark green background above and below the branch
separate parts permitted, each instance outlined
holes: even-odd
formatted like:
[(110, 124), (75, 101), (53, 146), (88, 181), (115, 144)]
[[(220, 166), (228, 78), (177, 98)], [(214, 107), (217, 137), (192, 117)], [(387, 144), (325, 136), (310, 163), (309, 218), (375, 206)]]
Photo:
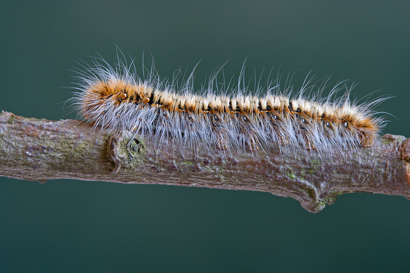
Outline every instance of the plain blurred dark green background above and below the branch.
[[(44, 4), (43, 4), (44, 3)], [(408, 1), (3, 3), (0, 110), (58, 120), (74, 59), (149, 51), (163, 77), (229, 60), (395, 96), (385, 133), (410, 136)], [(266, 75), (266, 74), (265, 74)], [(266, 80), (266, 78), (265, 78)], [(374, 96), (374, 97), (375, 97)], [(406, 116), (407, 115), (407, 116)], [(408, 271), (410, 201), (348, 194), (319, 214), (268, 193), (0, 178), (0, 271)]]

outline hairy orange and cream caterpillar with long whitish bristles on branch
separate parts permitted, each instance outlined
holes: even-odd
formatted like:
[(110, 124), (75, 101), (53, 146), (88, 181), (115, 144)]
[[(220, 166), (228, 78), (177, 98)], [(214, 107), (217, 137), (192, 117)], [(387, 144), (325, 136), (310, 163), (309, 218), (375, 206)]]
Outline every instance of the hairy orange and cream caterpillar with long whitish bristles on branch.
[[(373, 109), (386, 98), (351, 102), (354, 85), (347, 87), (345, 81), (324, 98), (320, 96), (327, 81), (314, 93), (308, 77), (298, 92), (290, 83), (282, 88), (277, 79), (264, 90), (258, 83), (254, 95), (240, 84), (243, 67), (237, 87), (229, 83), (214, 90), (219, 69), (208, 88), (195, 91), (193, 73), (178, 88), (175, 80), (161, 79), (153, 66), (139, 77), (125, 58), (118, 57), (114, 67), (99, 57), (81, 66), (71, 100), (82, 118), (94, 127), (128, 130), (159, 141), (252, 152), (290, 145), (333, 153), (372, 146), (385, 123)], [(344, 95), (334, 98), (342, 89)]]

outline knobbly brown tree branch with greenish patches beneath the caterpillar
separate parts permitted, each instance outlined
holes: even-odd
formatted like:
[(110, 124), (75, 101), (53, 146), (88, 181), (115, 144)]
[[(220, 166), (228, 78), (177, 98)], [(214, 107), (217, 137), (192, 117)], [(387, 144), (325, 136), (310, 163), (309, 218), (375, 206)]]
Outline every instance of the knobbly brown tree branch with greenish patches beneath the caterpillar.
[(70, 178), (270, 192), (310, 212), (353, 192), (410, 199), (410, 139), (384, 135), (368, 149), (320, 155), (286, 146), (264, 152), (188, 148), (78, 120), (0, 114), (0, 176)]

